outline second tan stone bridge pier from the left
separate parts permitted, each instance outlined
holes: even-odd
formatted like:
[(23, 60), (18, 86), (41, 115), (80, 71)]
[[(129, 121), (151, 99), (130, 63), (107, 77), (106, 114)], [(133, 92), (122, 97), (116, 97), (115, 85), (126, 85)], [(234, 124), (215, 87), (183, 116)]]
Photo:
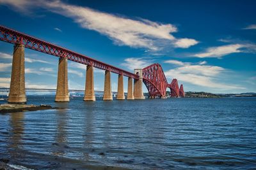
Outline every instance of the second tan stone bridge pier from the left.
[(68, 102), (68, 60), (67, 58), (59, 59), (58, 81), (55, 96), (56, 102)]

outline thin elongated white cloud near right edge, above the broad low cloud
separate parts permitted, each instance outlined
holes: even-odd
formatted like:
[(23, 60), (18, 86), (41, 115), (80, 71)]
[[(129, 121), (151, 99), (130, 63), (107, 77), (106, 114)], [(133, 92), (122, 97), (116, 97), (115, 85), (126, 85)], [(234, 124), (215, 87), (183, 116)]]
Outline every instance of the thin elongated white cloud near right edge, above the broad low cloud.
[(196, 53), (194, 57), (222, 57), (224, 55), (228, 55), (230, 53), (240, 53), (242, 52), (241, 48), (246, 47), (241, 44), (234, 45), (223, 45), (223, 46), (214, 46), (211, 48), (207, 48), (206, 52)]

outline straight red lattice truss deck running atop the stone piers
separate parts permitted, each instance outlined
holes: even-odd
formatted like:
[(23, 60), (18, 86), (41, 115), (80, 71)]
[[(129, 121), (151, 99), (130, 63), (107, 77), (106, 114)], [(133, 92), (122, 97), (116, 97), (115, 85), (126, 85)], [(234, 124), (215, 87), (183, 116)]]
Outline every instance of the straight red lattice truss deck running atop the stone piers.
[(133, 74), (118, 67), (111, 66), (104, 62), (100, 62), (99, 60), (92, 59), (86, 55), (72, 52), (71, 50), (63, 48), (61, 46), (48, 43), (32, 36), (28, 36), (27, 34), (6, 28), (2, 25), (0, 25), (0, 40), (13, 44), (22, 44), (26, 48), (30, 48), (38, 52), (48, 53), (50, 55), (61, 58), (67, 57), (68, 60), (72, 60), (74, 62), (93, 66), (98, 69), (108, 70), (116, 74), (123, 74), (124, 76), (131, 77), (137, 80), (139, 79), (139, 76), (137, 74)]

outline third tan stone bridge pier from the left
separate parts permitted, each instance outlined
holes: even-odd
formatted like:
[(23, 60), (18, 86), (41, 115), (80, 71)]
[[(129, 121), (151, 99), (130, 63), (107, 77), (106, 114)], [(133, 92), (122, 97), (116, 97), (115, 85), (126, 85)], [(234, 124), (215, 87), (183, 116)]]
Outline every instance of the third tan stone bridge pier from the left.
[(93, 66), (86, 67), (84, 101), (95, 101), (94, 82), (93, 82)]

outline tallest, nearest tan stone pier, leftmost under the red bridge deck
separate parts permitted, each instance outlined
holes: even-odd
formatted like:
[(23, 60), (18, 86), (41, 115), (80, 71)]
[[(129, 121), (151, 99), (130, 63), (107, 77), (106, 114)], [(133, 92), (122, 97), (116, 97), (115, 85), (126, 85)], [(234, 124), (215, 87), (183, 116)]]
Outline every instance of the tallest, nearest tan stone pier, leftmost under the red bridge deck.
[(13, 47), (12, 76), (8, 103), (25, 104), (26, 102), (24, 45), (17, 44)]

